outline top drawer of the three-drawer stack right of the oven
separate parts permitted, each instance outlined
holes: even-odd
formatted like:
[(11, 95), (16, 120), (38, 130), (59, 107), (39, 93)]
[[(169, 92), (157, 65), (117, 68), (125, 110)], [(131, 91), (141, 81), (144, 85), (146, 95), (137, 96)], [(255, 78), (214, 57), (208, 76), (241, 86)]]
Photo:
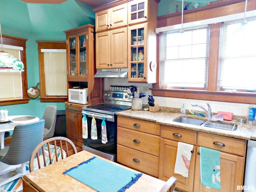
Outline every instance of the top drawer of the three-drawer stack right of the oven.
[(118, 116), (117, 126), (160, 136), (160, 124), (155, 122)]

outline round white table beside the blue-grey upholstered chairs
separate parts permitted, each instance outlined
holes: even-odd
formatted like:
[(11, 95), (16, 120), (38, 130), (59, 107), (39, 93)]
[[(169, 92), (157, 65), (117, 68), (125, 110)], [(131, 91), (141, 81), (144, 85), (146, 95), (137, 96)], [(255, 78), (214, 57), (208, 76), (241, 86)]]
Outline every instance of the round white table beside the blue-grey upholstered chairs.
[(4, 148), (4, 133), (6, 131), (14, 130), (16, 125), (27, 124), (39, 121), (40, 119), (36, 116), (31, 115), (12, 115), (8, 116), (8, 121), (0, 122), (0, 146)]

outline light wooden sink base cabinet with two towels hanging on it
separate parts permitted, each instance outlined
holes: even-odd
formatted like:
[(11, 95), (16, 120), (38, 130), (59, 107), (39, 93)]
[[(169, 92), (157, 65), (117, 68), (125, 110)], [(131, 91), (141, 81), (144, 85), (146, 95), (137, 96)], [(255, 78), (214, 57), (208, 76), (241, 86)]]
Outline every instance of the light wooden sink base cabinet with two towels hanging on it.
[[(174, 174), (178, 141), (194, 145), (188, 178)], [(200, 146), (220, 151), (220, 190), (207, 188), (200, 182)], [(161, 126), (159, 178), (167, 181), (175, 176), (178, 179), (176, 189), (182, 192), (242, 191), (236, 188), (243, 185), (245, 152), (246, 140)]]

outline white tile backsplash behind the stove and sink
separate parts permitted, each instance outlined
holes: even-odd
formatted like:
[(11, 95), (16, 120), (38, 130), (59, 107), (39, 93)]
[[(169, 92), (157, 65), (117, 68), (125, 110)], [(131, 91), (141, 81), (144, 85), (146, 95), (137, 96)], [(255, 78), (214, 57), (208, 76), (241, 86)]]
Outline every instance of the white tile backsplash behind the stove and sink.
[[(117, 86), (133, 85), (140, 88), (140, 92), (144, 92), (146, 94), (146, 97), (143, 98), (143, 104), (146, 104), (148, 102), (147, 100), (148, 95), (151, 94), (150, 88), (152, 88), (152, 84), (128, 83), (128, 78), (104, 78), (104, 90), (109, 90), (110, 85), (117, 85)], [(158, 97), (158, 96), (154, 96), (154, 98), (155, 100), (158, 101), (159, 106), (182, 108), (182, 104), (184, 104), (186, 109), (202, 111), (201, 108), (193, 107), (191, 106), (191, 104), (198, 104), (207, 109), (206, 103), (209, 103), (212, 108), (212, 112), (214, 113), (217, 113), (218, 111), (224, 111), (224, 112), (232, 112), (234, 113), (234, 115), (237, 115), (237, 116), (248, 116), (249, 104)]]

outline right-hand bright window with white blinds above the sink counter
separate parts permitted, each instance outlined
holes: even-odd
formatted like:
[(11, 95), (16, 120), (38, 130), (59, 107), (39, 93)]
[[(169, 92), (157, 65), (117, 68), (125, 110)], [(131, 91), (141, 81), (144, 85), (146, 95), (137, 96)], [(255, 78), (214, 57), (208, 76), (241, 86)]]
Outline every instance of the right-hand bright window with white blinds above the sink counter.
[(220, 63), (220, 90), (256, 91), (256, 19), (226, 23)]

